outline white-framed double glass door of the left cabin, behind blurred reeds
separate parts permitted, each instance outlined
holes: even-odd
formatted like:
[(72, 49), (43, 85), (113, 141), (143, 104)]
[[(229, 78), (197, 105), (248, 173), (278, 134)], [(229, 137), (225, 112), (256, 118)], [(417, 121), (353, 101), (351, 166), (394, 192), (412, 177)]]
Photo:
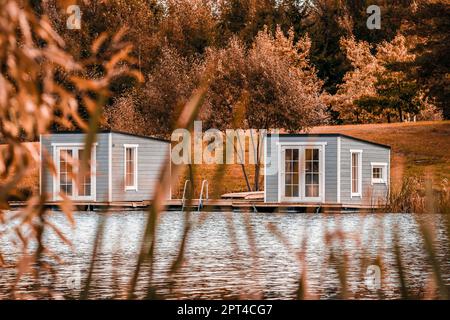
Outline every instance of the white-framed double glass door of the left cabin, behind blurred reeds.
[(79, 168), (83, 159), (82, 146), (61, 146), (56, 148), (56, 179), (54, 198), (64, 193), (72, 200), (95, 200), (95, 147), (93, 147), (83, 177)]

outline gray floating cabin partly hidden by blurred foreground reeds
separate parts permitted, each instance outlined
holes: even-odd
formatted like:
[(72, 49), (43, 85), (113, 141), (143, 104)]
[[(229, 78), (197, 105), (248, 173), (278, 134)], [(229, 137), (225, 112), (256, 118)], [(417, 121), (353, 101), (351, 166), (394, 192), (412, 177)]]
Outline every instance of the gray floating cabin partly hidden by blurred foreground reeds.
[(61, 200), (61, 193), (82, 203), (152, 199), (160, 170), (168, 161), (169, 141), (101, 131), (93, 145), (87, 173), (77, 183), (74, 173), (78, 160), (83, 157), (84, 139), (85, 134), (80, 132), (58, 132), (40, 137), (41, 157), (46, 155), (53, 159), (56, 168), (54, 175), (41, 161), (40, 191), (48, 195), (49, 201)]

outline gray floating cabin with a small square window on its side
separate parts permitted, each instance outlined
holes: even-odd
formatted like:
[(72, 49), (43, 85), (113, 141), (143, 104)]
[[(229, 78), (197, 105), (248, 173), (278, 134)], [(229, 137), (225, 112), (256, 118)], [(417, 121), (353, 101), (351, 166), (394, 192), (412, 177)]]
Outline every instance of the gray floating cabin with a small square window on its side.
[(265, 203), (377, 207), (390, 185), (390, 147), (343, 134), (268, 134)]

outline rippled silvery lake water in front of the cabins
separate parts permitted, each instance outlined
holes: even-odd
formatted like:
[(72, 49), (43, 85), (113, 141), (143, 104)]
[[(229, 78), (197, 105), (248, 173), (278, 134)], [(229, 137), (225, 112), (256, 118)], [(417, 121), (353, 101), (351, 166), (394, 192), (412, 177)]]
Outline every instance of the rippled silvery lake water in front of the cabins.
[[(54, 232), (48, 230), (45, 234), (48, 248), (62, 258), (59, 264), (55, 263), (57, 277), (43, 278), (44, 285), (53, 287), (56, 297), (80, 292), (80, 281), (86, 277), (97, 226), (104, 214), (76, 212), (74, 217), (73, 228), (61, 212), (53, 212), (49, 217), (72, 241), (73, 248)], [(124, 296), (135, 269), (146, 217), (145, 212), (139, 211), (108, 214), (90, 298)], [(433, 292), (432, 269), (416, 218), (411, 214), (214, 212), (204, 218), (192, 214), (193, 228), (185, 259), (178, 272), (169, 276), (181, 242), (185, 214), (161, 215), (152, 278), (161, 297), (290, 299), (296, 297), (303, 270), (307, 297), (332, 299), (342, 293), (339, 271), (345, 269), (346, 297), (398, 298), (400, 286), (393, 253), (395, 226), (409, 291), (424, 297), (426, 292)], [(433, 228), (437, 259), (448, 286), (450, 252), (444, 219), (441, 215), (422, 215), (420, 219)], [(7, 264), (0, 268), (0, 298), (9, 296), (17, 276), (11, 267), (20, 256), (14, 227), (0, 225), (0, 252)], [(148, 278), (148, 270), (143, 268), (136, 291), (138, 298), (145, 296)], [(23, 277), (16, 288), (19, 294), (33, 290), (29, 277)]]

